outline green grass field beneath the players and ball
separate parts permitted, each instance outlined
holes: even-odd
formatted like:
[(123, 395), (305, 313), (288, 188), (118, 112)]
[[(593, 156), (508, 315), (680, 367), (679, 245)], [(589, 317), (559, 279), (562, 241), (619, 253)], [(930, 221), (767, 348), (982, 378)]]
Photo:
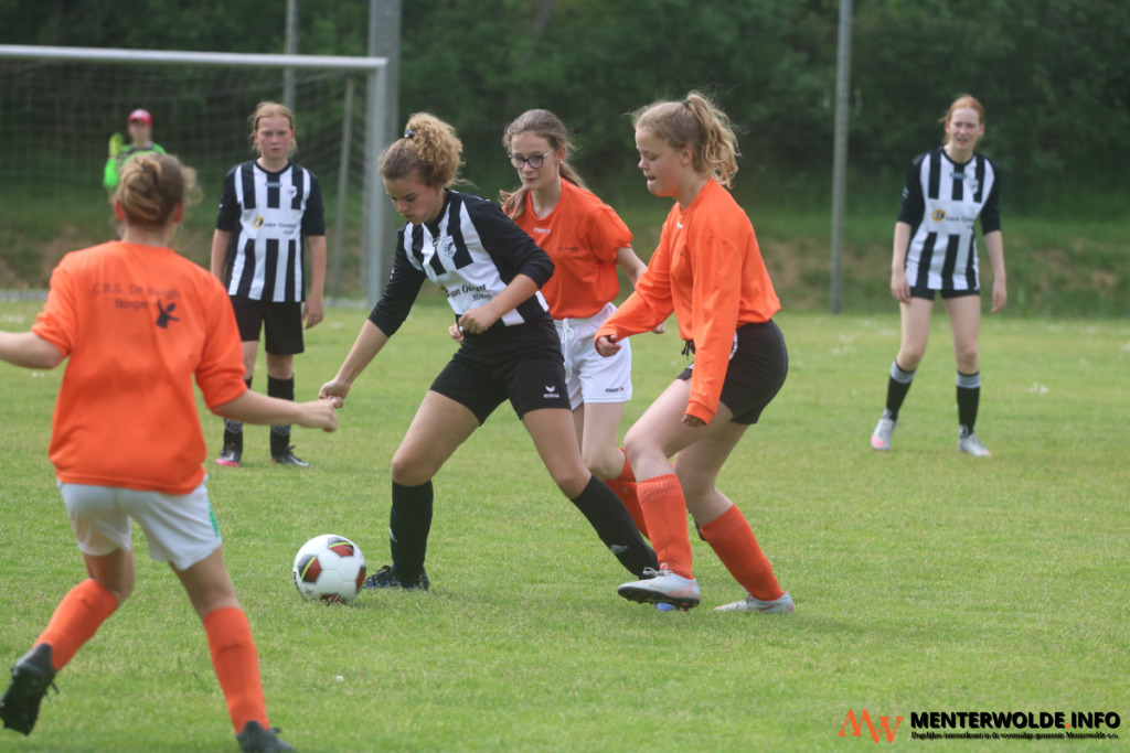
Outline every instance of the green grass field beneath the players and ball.
[[(26, 330), (38, 306), (0, 301), (0, 329)], [(364, 316), (331, 308), (310, 333), (299, 397), (333, 375)], [(898, 344), (893, 307), (783, 313), (789, 380), (720, 485), (794, 615), (713, 612), (741, 590), (697, 539), (701, 607), (618, 598), (627, 573), (508, 408), (435, 480), (429, 593), (302, 602), (289, 569), (315, 534), (349, 536), (373, 568), (388, 562), (389, 461), (453, 349), (449, 318), (421, 299), (355, 385), (340, 431), (296, 429), (311, 471), (272, 467), (266, 428), (249, 428), (243, 467), (209, 458), (271, 720), (298, 750), (873, 750), (866, 727), (838, 735), (849, 710), (877, 727), (904, 717), (904, 748), (1125, 750), (1130, 322), (986, 317), (977, 432), (993, 457), (971, 458), (955, 450), (945, 316), (894, 448), (879, 454), (868, 436)], [(679, 345), (673, 333), (634, 339), (625, 428), (680, 368)], [(3, 662), (84, 577), (46, 458), (61, 377), (0, 366)], [(221, 422), (201, 414), (214, 454)], [(235, 750), (199, 622), (134, 541), (133, 597), (56, 677), (34, 734), (5, 732), (3, 750)], [(911, 715), (928, 711), (1114, 711), (1121, 726), (1106, 730), (1116, 741), (927, 742)]]

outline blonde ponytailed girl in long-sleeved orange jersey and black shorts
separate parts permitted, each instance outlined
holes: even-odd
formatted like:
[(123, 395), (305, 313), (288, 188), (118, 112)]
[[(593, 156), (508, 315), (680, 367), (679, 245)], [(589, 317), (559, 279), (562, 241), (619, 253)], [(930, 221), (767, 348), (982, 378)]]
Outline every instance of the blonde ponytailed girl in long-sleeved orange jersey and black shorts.
[[(690, 608), (699, 601), (690, 566), (687, 510), (703, 539), (748, 595), (730, 612), (793, 611), (741, 511), (714, 483), (738, 440), (781, 389), (789, 369), (773, 315), (781, 304), (746, 213), (723, 186), (737, 172), (738, 142), (725, 113), (697, 91), (633, 116), (647, 190), (676, 203), (635, 292), (598, 330), (612, 356), (628, 335), (675, 312), (695, 360), (628, 430), (624, 446), (659, 570), (619, 587), (620, 596)], [(675, 469), (668, 458), (675, 457)]]

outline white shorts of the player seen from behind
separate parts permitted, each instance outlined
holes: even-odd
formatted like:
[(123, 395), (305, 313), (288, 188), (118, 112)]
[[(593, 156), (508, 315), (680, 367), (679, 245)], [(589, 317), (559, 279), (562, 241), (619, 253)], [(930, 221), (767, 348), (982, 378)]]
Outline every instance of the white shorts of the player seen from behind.
[(185, 570), (220, 545), (203, 482), (188, 494), (59, 482), (75, 539), (84, 554), (130, 551), (130, 520), (145, 532), (149, 557)]

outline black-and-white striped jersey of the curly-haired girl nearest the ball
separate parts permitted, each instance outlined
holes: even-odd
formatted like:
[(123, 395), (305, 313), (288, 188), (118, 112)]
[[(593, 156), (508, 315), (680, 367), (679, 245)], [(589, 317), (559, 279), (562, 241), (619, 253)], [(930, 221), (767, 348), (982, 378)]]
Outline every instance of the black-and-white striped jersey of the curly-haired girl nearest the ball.
[[(494, 202), (447, 190), (434, 222), (407, 222), (397, 231), (392, 273), (370, 319), (386, 335), (394, 333), (425, 279), (446, 294), (458, 319), (492, 300), (518, 274), (525, 274), (540, 288), (553, 272), (549, 255)], [(513, 326), (548, 318), (546, 299), (536, 292), (504, 314), (499, 323)]]

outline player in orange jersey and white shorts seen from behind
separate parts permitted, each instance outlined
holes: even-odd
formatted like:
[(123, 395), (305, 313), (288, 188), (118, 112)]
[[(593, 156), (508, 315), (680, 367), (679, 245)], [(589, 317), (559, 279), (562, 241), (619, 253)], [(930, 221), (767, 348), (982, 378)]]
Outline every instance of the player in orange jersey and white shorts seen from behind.
[(224, 566), (192, 379), (224, 418), (333, 431), (337, 415), (329, 401), (247, 389), (224, 287), (168, 247), (197, 198), (195, 173), (175, 157), (131, 159), (114, 196), (122, 239), (64, 256), (32, 331), (0, 332), (0, 360), (47, 369), (69, 358), (50, 455), (89, 573), (12, 667), (0, 718), (25, 735), (55, 673), (133, 590), (137, 520), (203, 623), (241, 750), (294, 750), (268, 721), (258, 651)]

